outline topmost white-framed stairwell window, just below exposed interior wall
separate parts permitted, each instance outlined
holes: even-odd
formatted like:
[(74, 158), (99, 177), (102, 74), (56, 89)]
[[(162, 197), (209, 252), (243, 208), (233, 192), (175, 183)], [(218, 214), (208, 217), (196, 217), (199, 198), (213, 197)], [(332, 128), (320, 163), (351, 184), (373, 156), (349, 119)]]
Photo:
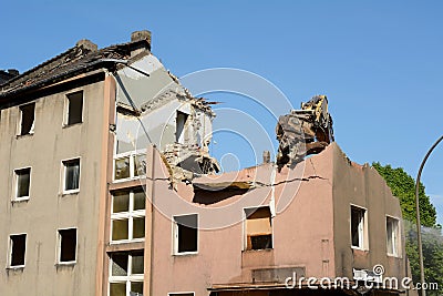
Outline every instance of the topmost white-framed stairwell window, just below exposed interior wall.
[(134, 151), (114, 157), (114, 180), (146, 175), (146, 151)]

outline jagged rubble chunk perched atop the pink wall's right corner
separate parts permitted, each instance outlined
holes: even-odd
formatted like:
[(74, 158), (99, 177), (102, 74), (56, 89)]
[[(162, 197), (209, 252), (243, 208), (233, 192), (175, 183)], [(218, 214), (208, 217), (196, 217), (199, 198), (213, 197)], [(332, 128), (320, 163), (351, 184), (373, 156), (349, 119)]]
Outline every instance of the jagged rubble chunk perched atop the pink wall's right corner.
[(279, 141), (277, 164), (280, 169), (324, 150), (334, 141), (327, 96), (316, 95), (309, 102), (301, 103), (300, 110), (281, 115), (276, 133)]

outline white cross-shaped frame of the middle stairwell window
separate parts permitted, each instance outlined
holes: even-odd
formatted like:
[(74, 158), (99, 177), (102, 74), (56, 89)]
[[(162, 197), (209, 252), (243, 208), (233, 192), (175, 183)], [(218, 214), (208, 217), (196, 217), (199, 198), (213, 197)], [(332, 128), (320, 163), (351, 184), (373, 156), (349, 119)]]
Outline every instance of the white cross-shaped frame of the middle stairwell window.
[[(145, 194), (145, 208), (144, 210), (134, 210), (134, 196), (135, 192), (140, 190)], [(117, 212), (114, 213), (114, 196), (115, 193), (119, 192), (127, 192), (128, 194), (128, 211), (127, 212)], [(136, 237), (134, 238), (134, 218), (144, 218), (146, 223), (146, 193), (143, 190), (143, 187), (132, 187), (130, 190), (120, 190), (120, 191), (114, 191), (111, 194), (111, 225), (110, 225), (110, 244), (124, 244), (124, 243), (135, 243), (135, 242), (144, 242), (146, 236), (143, 237)], [(127, 239), (116, 239), (114, 241), (112, 238), (113, 235), (113, 228), (114, 228), (114, 221), (123, 221), (127, 220)], [(145, 235), (146, 235), (146, 228), (145, 228)]]

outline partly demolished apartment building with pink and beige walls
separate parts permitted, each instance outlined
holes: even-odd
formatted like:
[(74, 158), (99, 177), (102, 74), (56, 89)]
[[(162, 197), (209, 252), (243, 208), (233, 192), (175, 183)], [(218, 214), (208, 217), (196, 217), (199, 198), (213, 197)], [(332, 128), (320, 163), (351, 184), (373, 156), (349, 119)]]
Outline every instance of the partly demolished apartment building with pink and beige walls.
[[(357, 295), (377, 264), (409, 276), (399, 202), (333, 142), (326, 96), (279, 119), (276, 162), (217, 174), (210, 102), (137, 31), (9, 78), (0, 111), (1, 295)], [(293, 273), (357, 288), (288, 289)]]

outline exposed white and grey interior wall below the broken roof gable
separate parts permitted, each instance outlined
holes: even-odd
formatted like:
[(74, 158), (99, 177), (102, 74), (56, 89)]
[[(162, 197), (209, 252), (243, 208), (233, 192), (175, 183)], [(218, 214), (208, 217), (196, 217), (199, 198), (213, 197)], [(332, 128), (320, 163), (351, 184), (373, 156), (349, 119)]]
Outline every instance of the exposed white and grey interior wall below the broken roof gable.
[(140, 111), (138, 119), (134, 114), (119, 113), (117, 152), (145, 149), (151, 143), (161, 151), (174, 143), (207, 146), (213, 115), (196, 108), (194, 99), (154, 55), (146, 55), (132, 67), (150, 76), (128, 68), (117, 72), (117, 102)]

